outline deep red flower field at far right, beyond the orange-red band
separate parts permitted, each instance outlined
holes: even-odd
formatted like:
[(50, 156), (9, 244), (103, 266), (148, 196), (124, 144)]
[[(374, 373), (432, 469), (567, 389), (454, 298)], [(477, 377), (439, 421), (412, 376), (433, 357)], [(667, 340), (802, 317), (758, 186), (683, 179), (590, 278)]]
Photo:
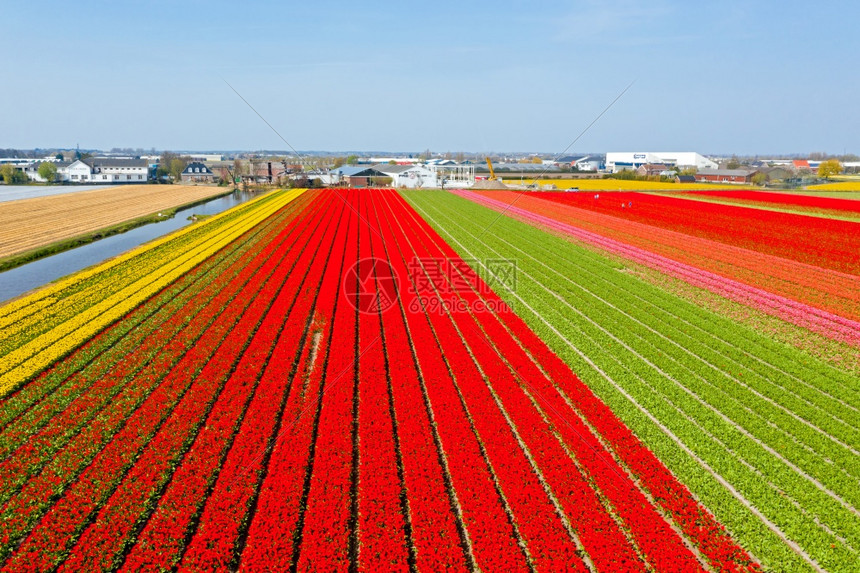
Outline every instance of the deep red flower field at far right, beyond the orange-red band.
[(852, 221), (636, 192), (604, 193), (597, 199), (591, 193), (530, 195), (823, 268), (860, 273), (860, 223)]

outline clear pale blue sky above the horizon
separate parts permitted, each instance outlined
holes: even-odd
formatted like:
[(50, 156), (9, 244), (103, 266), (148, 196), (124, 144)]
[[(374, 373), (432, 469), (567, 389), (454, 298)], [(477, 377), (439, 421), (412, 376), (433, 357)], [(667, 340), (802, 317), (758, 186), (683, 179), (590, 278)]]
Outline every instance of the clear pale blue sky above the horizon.
[(853, 0), (10, 0), (0, 148), (860, 153)]

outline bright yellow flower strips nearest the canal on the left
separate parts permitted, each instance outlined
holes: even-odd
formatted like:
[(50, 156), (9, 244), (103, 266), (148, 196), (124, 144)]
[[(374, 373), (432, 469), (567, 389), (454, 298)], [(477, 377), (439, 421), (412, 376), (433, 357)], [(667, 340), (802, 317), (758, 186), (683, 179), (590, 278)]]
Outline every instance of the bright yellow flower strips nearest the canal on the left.
[[(84, 278), (102, 273), (100, 281), (122, 280), (127, 283), (127, 286), (118, 292), (89, 306), (84, 306), (83, 301), (74, 296), (57, 300), (57, 305), (62, 305), (64, 310), (72, 310), (74, 313), (70, 319), (51, 325), (51, 328), (46, 332), (12, 349), (0, 358), (0, 396), (8, 393), (55, 360), (98, 334), (102, 329), (133, 310), (184, 273), (286, 206), (303, 191), (301, 189), (281, 192), (274, 198), (264, 196), (208, 219), (204, 223), (208, 232), (198, 237), (193, 246), (186, 248), (185, 245), (182, 245), (181, 251), (168, 252), (167, 256), (161, 257), (158, 265), (147, 269), (139, 278), (124, 276), (126, 273), (121, 263), (130, 261), (134, 257), (145, 254), (169, 241), (175, 241), (192, 230), (200, 229), (201, 226), (183, 229), (130, 251), (122, 257), (108, 261), (104, 265), (73, 275), (44, 291), (39, 291), (8, 305), (8, 307), (13, 307), (11, 311), (8, 307), (3, 308), (3, 319), (11, 318), (16, 312), (27, 308), (28, 305), (34, 305), (35, 311), (32, 314), (38, 317), (42, 314), (40, 310), (44, 309), (46, 304), (50, 304), (50, 301), (56, 300), (56, 295), (61, 294), (63, 288), (74, 285)], [(219, 221), (223, 221), (237, 212), (241, 213), (235, 220), (227, 222), (225, 225), (218, 224)], [(98, 284), (92, 288), (97, 289)], [(16, 334), (25, 332), (21, 330), (21, 326), (23, 324), (15, 323), (8, 329), (14, 332), (4, 332), (4, 335), (11, 334), (10, 338), (15, 338)]]

